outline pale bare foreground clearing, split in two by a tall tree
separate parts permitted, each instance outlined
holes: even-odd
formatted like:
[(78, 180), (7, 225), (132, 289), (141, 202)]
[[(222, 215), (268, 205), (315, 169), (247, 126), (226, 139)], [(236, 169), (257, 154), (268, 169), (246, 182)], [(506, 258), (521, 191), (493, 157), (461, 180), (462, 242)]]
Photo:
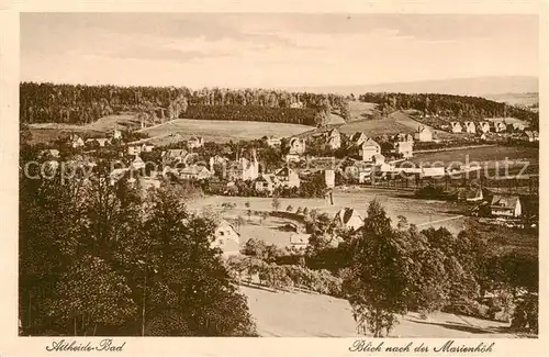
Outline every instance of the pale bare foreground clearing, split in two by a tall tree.
[[(347, 300), (303, 292), (270, 292), (240, 287), (248, 298), (248, 306), (256, 320), (258, 333), (264, 337), (358, 337), (351, 308)], [(277, 306), (277, 308), (274, 308)], [(433, 313), (422, 320), (416, 313), (400, 317), (391, 336), (460, 338), (512, 338), (508, 324)], [(440, 344), (441, 345), (441, 344)]]

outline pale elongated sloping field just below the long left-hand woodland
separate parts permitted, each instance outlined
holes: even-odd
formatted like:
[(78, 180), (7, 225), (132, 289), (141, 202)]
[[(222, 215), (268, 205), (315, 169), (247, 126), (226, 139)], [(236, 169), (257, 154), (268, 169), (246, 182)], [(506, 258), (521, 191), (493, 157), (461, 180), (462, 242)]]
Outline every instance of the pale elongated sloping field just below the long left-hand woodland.
[(158, 144), (161, 145), (163, 137), (169, 140), (167, 135), (170, 134), (179, 134), (183, 140), (198, 135), (204, 137), (205, 142), (224, 143), (231, 140), (255, 140), (265, 135), (285, 137), (311, 129), (307, 125), (285, 123), (176, 119), (141, 132), (150, 137), (158, 136)]

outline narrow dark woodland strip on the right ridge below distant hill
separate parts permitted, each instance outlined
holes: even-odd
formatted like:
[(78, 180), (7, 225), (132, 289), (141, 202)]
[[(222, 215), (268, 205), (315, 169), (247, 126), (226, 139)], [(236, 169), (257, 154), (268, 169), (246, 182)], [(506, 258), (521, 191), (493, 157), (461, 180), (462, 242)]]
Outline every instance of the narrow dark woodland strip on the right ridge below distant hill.
[(481, 97), (436, 93), (363, 93), (362, 102), (378, 103), (381, 108), (415, 109), (426, 115), (483, 120), (484, 118), (513, 116), (537, 125), (539, 114), (530, 110), (495, 102)]

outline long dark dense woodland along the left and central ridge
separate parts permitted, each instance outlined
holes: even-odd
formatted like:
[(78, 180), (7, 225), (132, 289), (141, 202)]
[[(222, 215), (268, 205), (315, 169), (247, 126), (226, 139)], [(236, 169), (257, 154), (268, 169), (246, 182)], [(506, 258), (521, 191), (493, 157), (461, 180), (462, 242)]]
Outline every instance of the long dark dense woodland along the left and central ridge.
[[(117, 112), (144, 112), (176, 118), (278, 121), (314, 125), (322, 115), (344, 105), (336, 94), (295, 93), (264, 89), (186, 87), (72, 86), (23, 82), (20, 118), (24, 123), (87, 124)], [(212, 109), (221, 107), (223, 109)], [(298, 107), (298, 108), (294, 108)], [(269, 108), (260, 111), (259, 108)]]

